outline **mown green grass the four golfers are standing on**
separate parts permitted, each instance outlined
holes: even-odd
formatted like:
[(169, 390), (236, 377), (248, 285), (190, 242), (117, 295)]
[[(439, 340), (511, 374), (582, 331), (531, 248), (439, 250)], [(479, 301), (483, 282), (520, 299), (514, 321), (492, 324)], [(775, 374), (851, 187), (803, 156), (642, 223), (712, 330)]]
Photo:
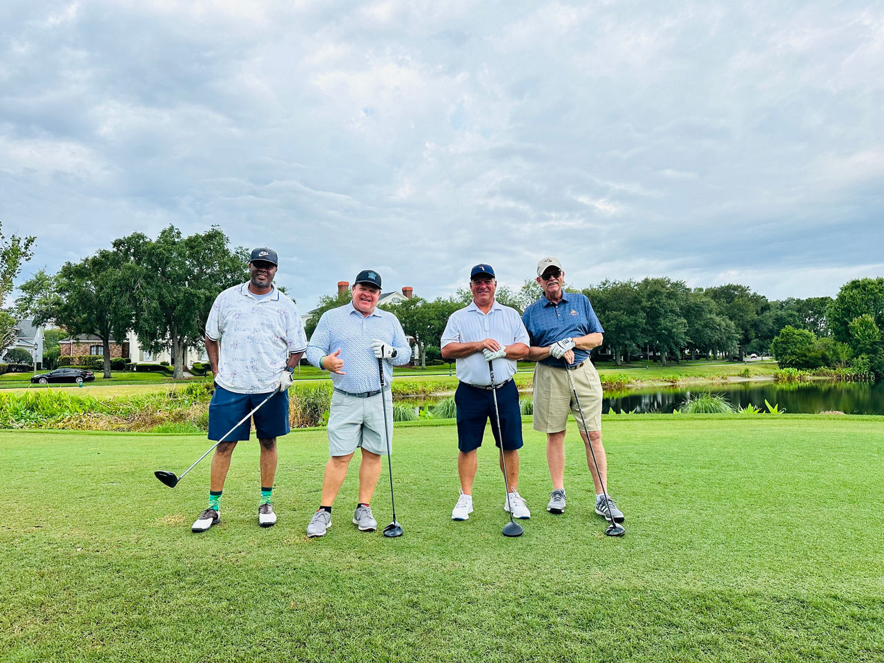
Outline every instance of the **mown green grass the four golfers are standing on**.
[[(570, 424), (574, 433), (574, 424)], [(276, 527), (257, 525), (258, 448), (234, 453), (202, 535), (199, 436), (0, 433), (0, 659), (51, 661), (884, 660), (884, 420), (617, 415), (603, 428), (623, 538), (591, 509), (569, 434), (568, 511), (545, 512), (545, 443), (525, 423), (525, 535), (500, 535), (503, 482), (479, 453), (469, 522), (452, 425), (397, 426), (400, 539), (326, 537), (324, 431), (280, 442)], [(487, 439), (487, 438), (486, 438)], [(386, 472), (386, 466), (384, 469)], [(372, 507), (391, 518), (386, 474)]]

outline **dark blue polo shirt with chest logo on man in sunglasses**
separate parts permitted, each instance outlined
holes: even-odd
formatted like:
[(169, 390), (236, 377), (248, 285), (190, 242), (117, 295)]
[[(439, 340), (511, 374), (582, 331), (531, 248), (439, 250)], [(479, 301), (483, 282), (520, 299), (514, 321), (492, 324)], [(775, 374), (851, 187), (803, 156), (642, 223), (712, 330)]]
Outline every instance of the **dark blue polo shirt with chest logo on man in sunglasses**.
[[(601, 323), (598, 322), (596, 312), (592, 310), (592, 304), (585, 294), (562, 293), (561, 301), (553, 304), (546, 299), (546, 295), (540, 295), (540, 299), (525, 309), (522, 313), (522, 322), (534, 347), (552, 346), (560, 339), (576, 338), (586, 334), (604, 333)], [(574, 348), (574, 362), (583, 362), (590, 358), (589, 350)], [(548, 366), (564, 367), (564, 359), (546, 357), (540, 360)]]

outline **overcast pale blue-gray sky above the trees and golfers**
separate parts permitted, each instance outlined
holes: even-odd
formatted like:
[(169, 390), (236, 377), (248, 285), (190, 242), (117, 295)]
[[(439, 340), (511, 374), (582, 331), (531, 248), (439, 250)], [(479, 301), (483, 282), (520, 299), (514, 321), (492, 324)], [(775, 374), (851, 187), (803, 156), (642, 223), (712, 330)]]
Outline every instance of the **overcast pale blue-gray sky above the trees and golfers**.
[(884, 275), (884, 6), (0, 4), (0, 219), (27, 277), (133, 231), (267, 245), (302, 310), (667, 276)]

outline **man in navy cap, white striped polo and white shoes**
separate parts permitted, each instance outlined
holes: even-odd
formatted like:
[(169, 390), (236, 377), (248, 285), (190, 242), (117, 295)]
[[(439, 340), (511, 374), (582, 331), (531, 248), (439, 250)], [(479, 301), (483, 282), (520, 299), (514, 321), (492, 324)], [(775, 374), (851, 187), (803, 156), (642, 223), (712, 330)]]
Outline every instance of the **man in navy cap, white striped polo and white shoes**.
[[(473, 513), (473, 481), (478, 468), (478, 448), (482, 446), (485, 424), (491, 419), (497, 446), (503, 450), (507, 466), (508, 499), (504, 510), (513, 509), (514, 518), (530, 518), (531, 512), (517, 490), (519, 449), (522, 448), (522, 412), (519, 390), (513, 376), (516, 361), (528, 354), (528, 332), (518, 311), (494, 299), (497, 280), (489, 264), (477, 264), (469, 273), (473, 301), (453, 312), (442, 332), (442, 356), (456, 359), (460, 384), (454, 392), (457, 406), (457, 472), (461, 496), (451, 513), (452, 520), (469, 520)], [(494, 382), (488, 362), (493, 362)], [(500, 429), (494, 412), (492, 389), (497, 392)]]

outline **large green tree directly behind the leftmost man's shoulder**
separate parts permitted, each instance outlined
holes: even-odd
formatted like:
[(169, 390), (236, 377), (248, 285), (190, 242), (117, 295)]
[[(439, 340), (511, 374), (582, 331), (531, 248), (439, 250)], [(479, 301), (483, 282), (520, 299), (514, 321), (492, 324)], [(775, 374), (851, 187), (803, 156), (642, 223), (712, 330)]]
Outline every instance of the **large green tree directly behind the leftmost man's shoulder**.
[(129, 288), (141, 345), (154, 352), (169, 348), (172, 377), (184, 377), (187, 347), (202, 347), (217, 294), (248, 280), (248, 252), (230, 248), (217, 226), (184, 237), (170, 225), (156, 240), (135, 232), (113, 246), (137, 266)]

